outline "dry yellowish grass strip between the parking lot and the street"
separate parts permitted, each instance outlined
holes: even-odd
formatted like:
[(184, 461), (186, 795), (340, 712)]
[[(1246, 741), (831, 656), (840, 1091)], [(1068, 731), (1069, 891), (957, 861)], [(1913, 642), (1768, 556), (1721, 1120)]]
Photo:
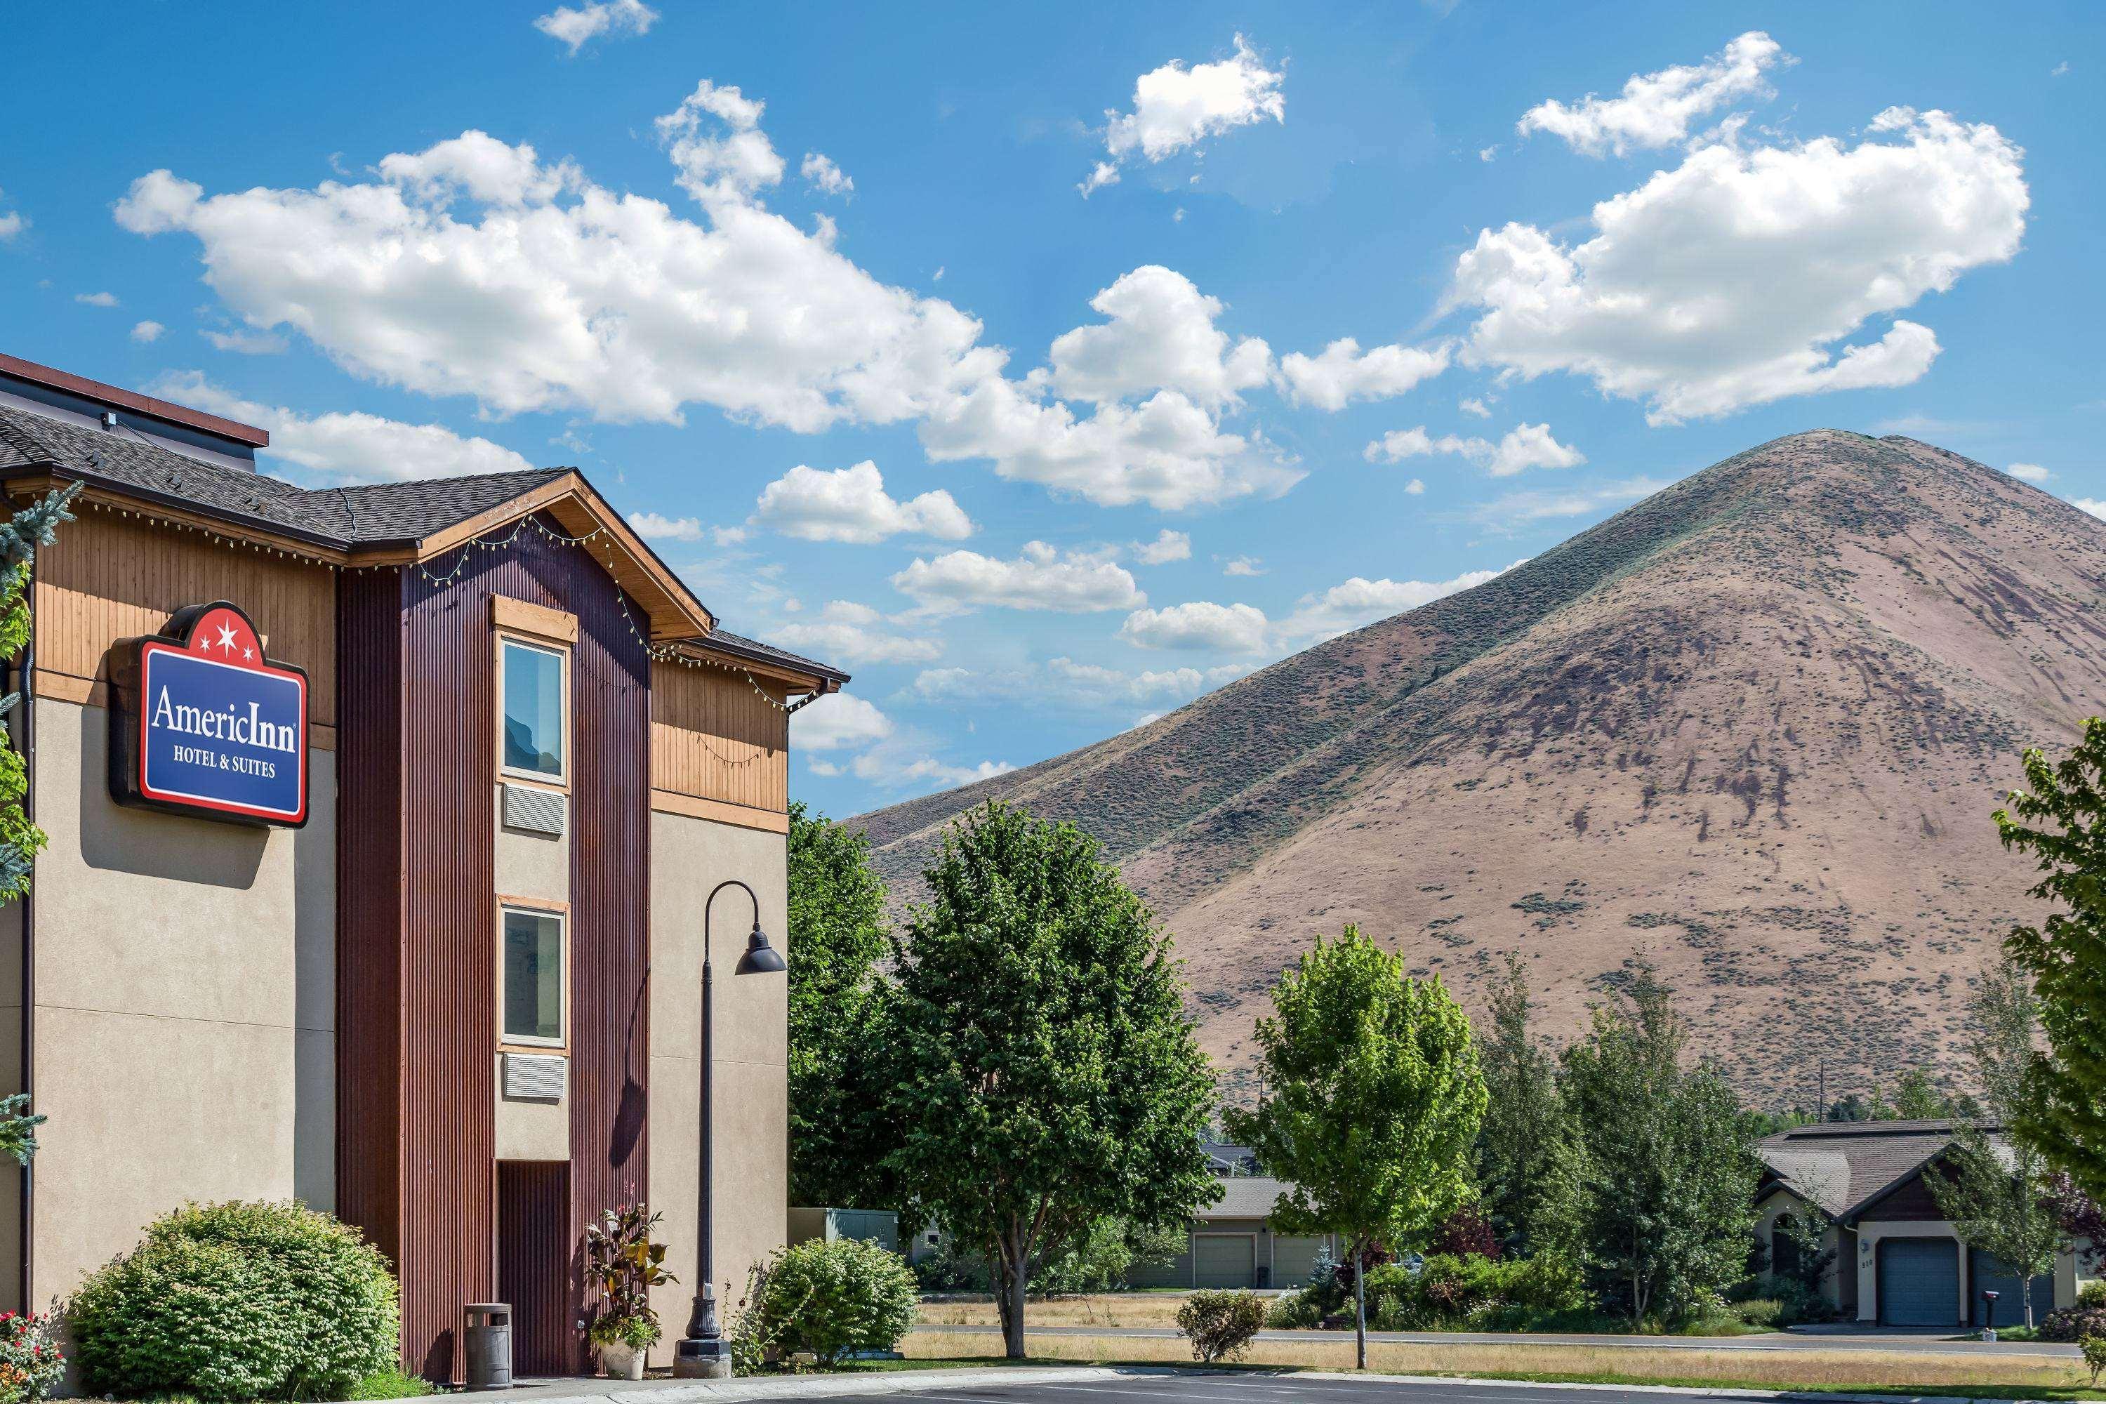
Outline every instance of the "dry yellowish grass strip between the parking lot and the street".
[[(1192, 1364), (1184, 1341), (1135, 1337), (1034, 1337), (1034, 1360), (1080, 1364)], [(899, 1349), (912, 1360), (960, 1360), (998, 1353), (977, 1335), (916, 1330)], [(1257, 1366), (1352, 1368), (1350, 1335), (1259, 1341), (1243, 1358)], [(1495, 1379), (1571, 1379), (1628, 1385), (1733, 1385), (1748, 1389), (1912, 1389), (2053, 1391), (2055, 1398), (2106, 1398), (2085, 1389), (2079, 1364), (2018, 1356), (1910, 1356), (1900, 1351), (1704, 1351), (1588, 1345), (1388, 1345), (1369, 1343), (1367, 1366), (1388, 1375), (1478, 1375)]]

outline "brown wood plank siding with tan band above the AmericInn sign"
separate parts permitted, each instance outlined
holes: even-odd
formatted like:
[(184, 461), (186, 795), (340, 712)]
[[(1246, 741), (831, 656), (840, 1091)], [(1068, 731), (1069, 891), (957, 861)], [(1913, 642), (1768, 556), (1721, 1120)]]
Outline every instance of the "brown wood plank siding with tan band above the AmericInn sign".
[[(337, 726), (337, 579), (314, 562), (215, 543), (162, 522), (84, 507), (36, 554), (36, 665), (86, 684), (110, 682), (110, 646), (158, 634), (187, 604), (232, 600), (263, 650), (307, 669), (310, 728), (324, 747)], [(59, 688), (51, 690), (53, 695)], [(72, 688), (72, 701), (95, 701)]]

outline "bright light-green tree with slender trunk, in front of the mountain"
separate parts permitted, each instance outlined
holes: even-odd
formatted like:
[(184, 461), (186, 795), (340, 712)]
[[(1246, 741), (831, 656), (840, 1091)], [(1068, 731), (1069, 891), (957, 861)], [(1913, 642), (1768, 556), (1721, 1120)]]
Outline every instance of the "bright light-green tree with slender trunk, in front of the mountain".
[(1280, 977), (1257, 1021), (1268, 1099), (1230, 1135), (1291, 1189), (1272, 1225), (1339, 1233), (1352, 1257), (1354, 1358), (1367, 1368), (1365, 1259), (1428, 1236), (1464, 1200), (1485, 1078), (1470, 1021), (1348, 926)]

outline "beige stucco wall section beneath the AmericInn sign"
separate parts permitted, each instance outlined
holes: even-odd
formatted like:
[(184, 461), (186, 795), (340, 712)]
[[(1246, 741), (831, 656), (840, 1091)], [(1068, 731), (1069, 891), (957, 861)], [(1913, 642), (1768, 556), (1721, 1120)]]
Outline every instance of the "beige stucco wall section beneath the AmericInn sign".
[(183, 1200), (335, 1206), (337, 768), (299, 831), (128, 810), (103, 709), (34, 707), (44, 1305)]

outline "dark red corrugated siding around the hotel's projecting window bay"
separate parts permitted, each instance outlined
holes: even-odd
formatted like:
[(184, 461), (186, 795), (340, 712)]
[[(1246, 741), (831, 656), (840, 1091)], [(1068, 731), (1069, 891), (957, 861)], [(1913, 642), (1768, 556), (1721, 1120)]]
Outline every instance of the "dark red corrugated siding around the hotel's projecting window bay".
[[(550, 524), (554, 528), (554, 524)], [(649, 819), (651, 819), (651, 688), (649, 657), (638, 634), (642, 615), (625, 602), (590, 556), (590, 547), (548, 541), (531, 526), (505, 549), (470, 549), (430, 562), (436, 583), (417, 570), (375, 577), (398, 589), (398, 722), (394, 770), (377, 766), (360, 787), (360, 806), (345, 804), (345, 834), (394, 825), (398, 831), (398, 918), (383, 930), (377, 909), (360, 911), (360, 943), (396, 951), (394, 989), (347, 983), (339, 996), (339, 1029), (364, 1017), (398, 1010), (394, 1065), (377, 1052), (371, 1067), (392, 1082), (388, 1092), (345, 1088), (366, 1101), (373, 1132), (396, 1135), (398, 1183), (388, 1194), (379, 1170), (371, 1212), (360, 1219), (377, 1242), (398, 1244), (402, 1273), (402, 1343), (413, 1368), (432, 1379), (459, 1377), (455, 1328), (465, 1301), (486, 1301), (495, 1288), (495, 646), (493, 594), (577, 615), (579, 640), (571, 682), (571, 1305), (583, 1307), (579, 1236), (602, 1208), (644, 1198), (644, 972), (649, 964)], [(360, 577), (364, 579), (364, 577)], [(379, 587), (375, 587), (379, 594)], [(371, 600), (345, 606), (358, 615), (360, 638), (377, 640), (379, 608)], [(634, 623), (632, 623), (634, 621)], [(347, 627), (345, 634), (352, 634)], [(358, 644), (345, 644), (352, 661)], [(379, 644), (373, 644), (379, 650)], [(358, 653), (362, 667), (343, 671), (345, 714), (362, 718), (369, 678), (385, 663)], [(345, 764), (356, 764), (350, 756)], [(388, 815), (381, 796), (392, 794)], [(350, 840), (347, 840), (350, 844)], [(385, 842), (375, 840), (375, 848)], [(350, 855), (350, 846), (345, 848)], [(354, 892), (364, 874), (345, 863), (339, 892)], [(341, 901), (341, 899), (339, 899)], [(345, 909), (350, 918), (350, 909)], [(360, 972), (362, 975), (362, 972)], [(385, 1027), (360, 1034), (388, 1042)], [(350, 1135), (354, 1122), (345, 1122)], [(364, 1151), (347, 1145), (339, 1158)], [(388, 1221), (385, 1227), (381, 1221)], [(577, 1320), (573, 1316), (571, 1320)], [(573, 1339), (577, 1368), (588, 1368)]]

